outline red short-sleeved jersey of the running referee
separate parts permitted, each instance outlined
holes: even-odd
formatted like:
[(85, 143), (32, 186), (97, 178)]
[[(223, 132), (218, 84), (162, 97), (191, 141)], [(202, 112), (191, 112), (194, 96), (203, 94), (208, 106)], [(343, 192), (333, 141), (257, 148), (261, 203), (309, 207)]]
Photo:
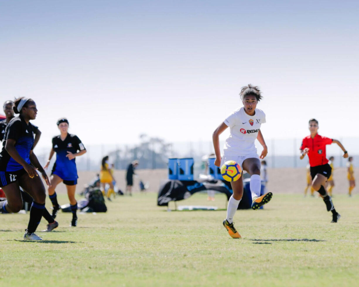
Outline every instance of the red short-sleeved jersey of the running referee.
[(323, 137), (318, 134), (314, 138), (307, 136), (303, 138), (301, 150), (304, 150), (308, 147), (308, 157), (309, 165), (317, 166), (327, 164), (328, 160), (326, 158), (326, 145), (331, 145), (333, 140), (328, 137)]

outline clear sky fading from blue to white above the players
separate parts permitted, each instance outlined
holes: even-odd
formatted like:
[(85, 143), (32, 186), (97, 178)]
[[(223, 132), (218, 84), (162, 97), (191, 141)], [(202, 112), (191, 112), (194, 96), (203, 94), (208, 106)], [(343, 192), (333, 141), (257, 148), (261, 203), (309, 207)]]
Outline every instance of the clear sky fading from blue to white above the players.
[[(358, 1), (0, 1), (0, 95), (33, 98), (39, 146), (211, 140), (259, 85), (265, 138), (359, 133)], [(221, 136), (223, 140), (225, 136)]]

